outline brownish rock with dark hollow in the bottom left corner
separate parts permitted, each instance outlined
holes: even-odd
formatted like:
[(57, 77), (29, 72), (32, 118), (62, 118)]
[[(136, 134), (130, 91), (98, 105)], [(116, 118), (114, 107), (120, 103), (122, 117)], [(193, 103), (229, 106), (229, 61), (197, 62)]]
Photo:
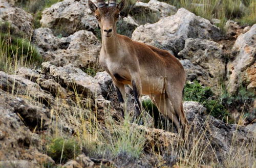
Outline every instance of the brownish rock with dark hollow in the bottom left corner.
[(13, 165), (31, 165), (25, 161), (15, 161), (19, 159), (37, 163), (38, 155), (35, 156), (34, 153), (42, 150), (41, 139), (30, 130), (44, 129), (48, 110), (27, 104), (23, 99), (11, 96), (1, 89), (0, 102), (0, 165), (9, 167), (7, 165), (10, 161), (15, 163)]

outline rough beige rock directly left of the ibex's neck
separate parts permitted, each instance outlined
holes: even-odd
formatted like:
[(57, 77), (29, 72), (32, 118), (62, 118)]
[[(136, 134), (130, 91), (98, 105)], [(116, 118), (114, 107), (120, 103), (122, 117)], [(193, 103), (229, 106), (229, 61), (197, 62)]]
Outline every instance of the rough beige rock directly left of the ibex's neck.
[(66, 49), (58, 49), (44, 54), (45, 60), (55, 66), (73, 64), (79, 68), (98, 68), (98, 56), (101, 43), (92, 32), (78, 31), (67, 38), (61, 38), (59, 46)]

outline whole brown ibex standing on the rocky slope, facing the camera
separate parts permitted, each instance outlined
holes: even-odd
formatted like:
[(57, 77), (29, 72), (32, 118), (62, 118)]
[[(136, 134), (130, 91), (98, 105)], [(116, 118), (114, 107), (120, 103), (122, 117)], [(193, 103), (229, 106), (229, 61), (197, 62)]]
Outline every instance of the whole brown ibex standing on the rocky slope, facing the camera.
[(101, 30), (99, 63), (111, 75), (122, 105), (125, 99), (124, 85), (129, 85), (134, 90), (140, 113), (140, 97), (142, 94), (149, 95), (161, 113), (168, 116), (184, 135), (187, 119), (182, 105), (186, 79), (183, 66), (165, 50), (116, 33), (116, 22), (124, 6), (125, 0), (119, 4), (116, 0), (110, 0), (108, 4), (104, 0), (97, 0), (97, 6), (89, 1)]

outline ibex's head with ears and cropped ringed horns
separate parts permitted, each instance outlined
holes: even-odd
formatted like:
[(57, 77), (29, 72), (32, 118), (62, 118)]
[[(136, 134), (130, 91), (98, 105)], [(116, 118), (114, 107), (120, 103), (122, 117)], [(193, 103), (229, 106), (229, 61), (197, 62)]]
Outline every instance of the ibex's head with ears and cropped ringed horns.
[(103, 36), (112, 37), (116, 32), (116, 22), (124, 5), (125, 0), (119, 4), (116, 4), (116, 0), (109, 0), (108, 4), (105, 4), (104, 0), (97, 0), (97, 6), (89, 0), (89, 8), (94, 12)]

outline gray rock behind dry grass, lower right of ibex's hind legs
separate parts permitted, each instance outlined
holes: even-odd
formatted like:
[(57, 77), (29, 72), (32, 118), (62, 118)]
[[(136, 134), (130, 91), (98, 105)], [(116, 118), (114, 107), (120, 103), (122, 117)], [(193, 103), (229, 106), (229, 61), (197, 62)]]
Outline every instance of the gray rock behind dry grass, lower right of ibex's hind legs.
[[(189, 145), (186, 152), (191, 153), (193, 151), (195, 147), (194, 141), (200, 141), (201, 145), (196, 149), (204, 151), (202, 160), (205, 163), (224, 163), (230, 156), (234, 157), (238, 153), (248, 152), (245, 147), (253, 141), (254, 137), (253, 133), (246, 127), (227, 124), (210, 115), (206, 115), (205, 108), (198, 102), (184, 102), (183, 106), (190, 129), (187, 139)], [(250, 167), (254, 160), (255, 156), (248, 155), (244, 164)]]

